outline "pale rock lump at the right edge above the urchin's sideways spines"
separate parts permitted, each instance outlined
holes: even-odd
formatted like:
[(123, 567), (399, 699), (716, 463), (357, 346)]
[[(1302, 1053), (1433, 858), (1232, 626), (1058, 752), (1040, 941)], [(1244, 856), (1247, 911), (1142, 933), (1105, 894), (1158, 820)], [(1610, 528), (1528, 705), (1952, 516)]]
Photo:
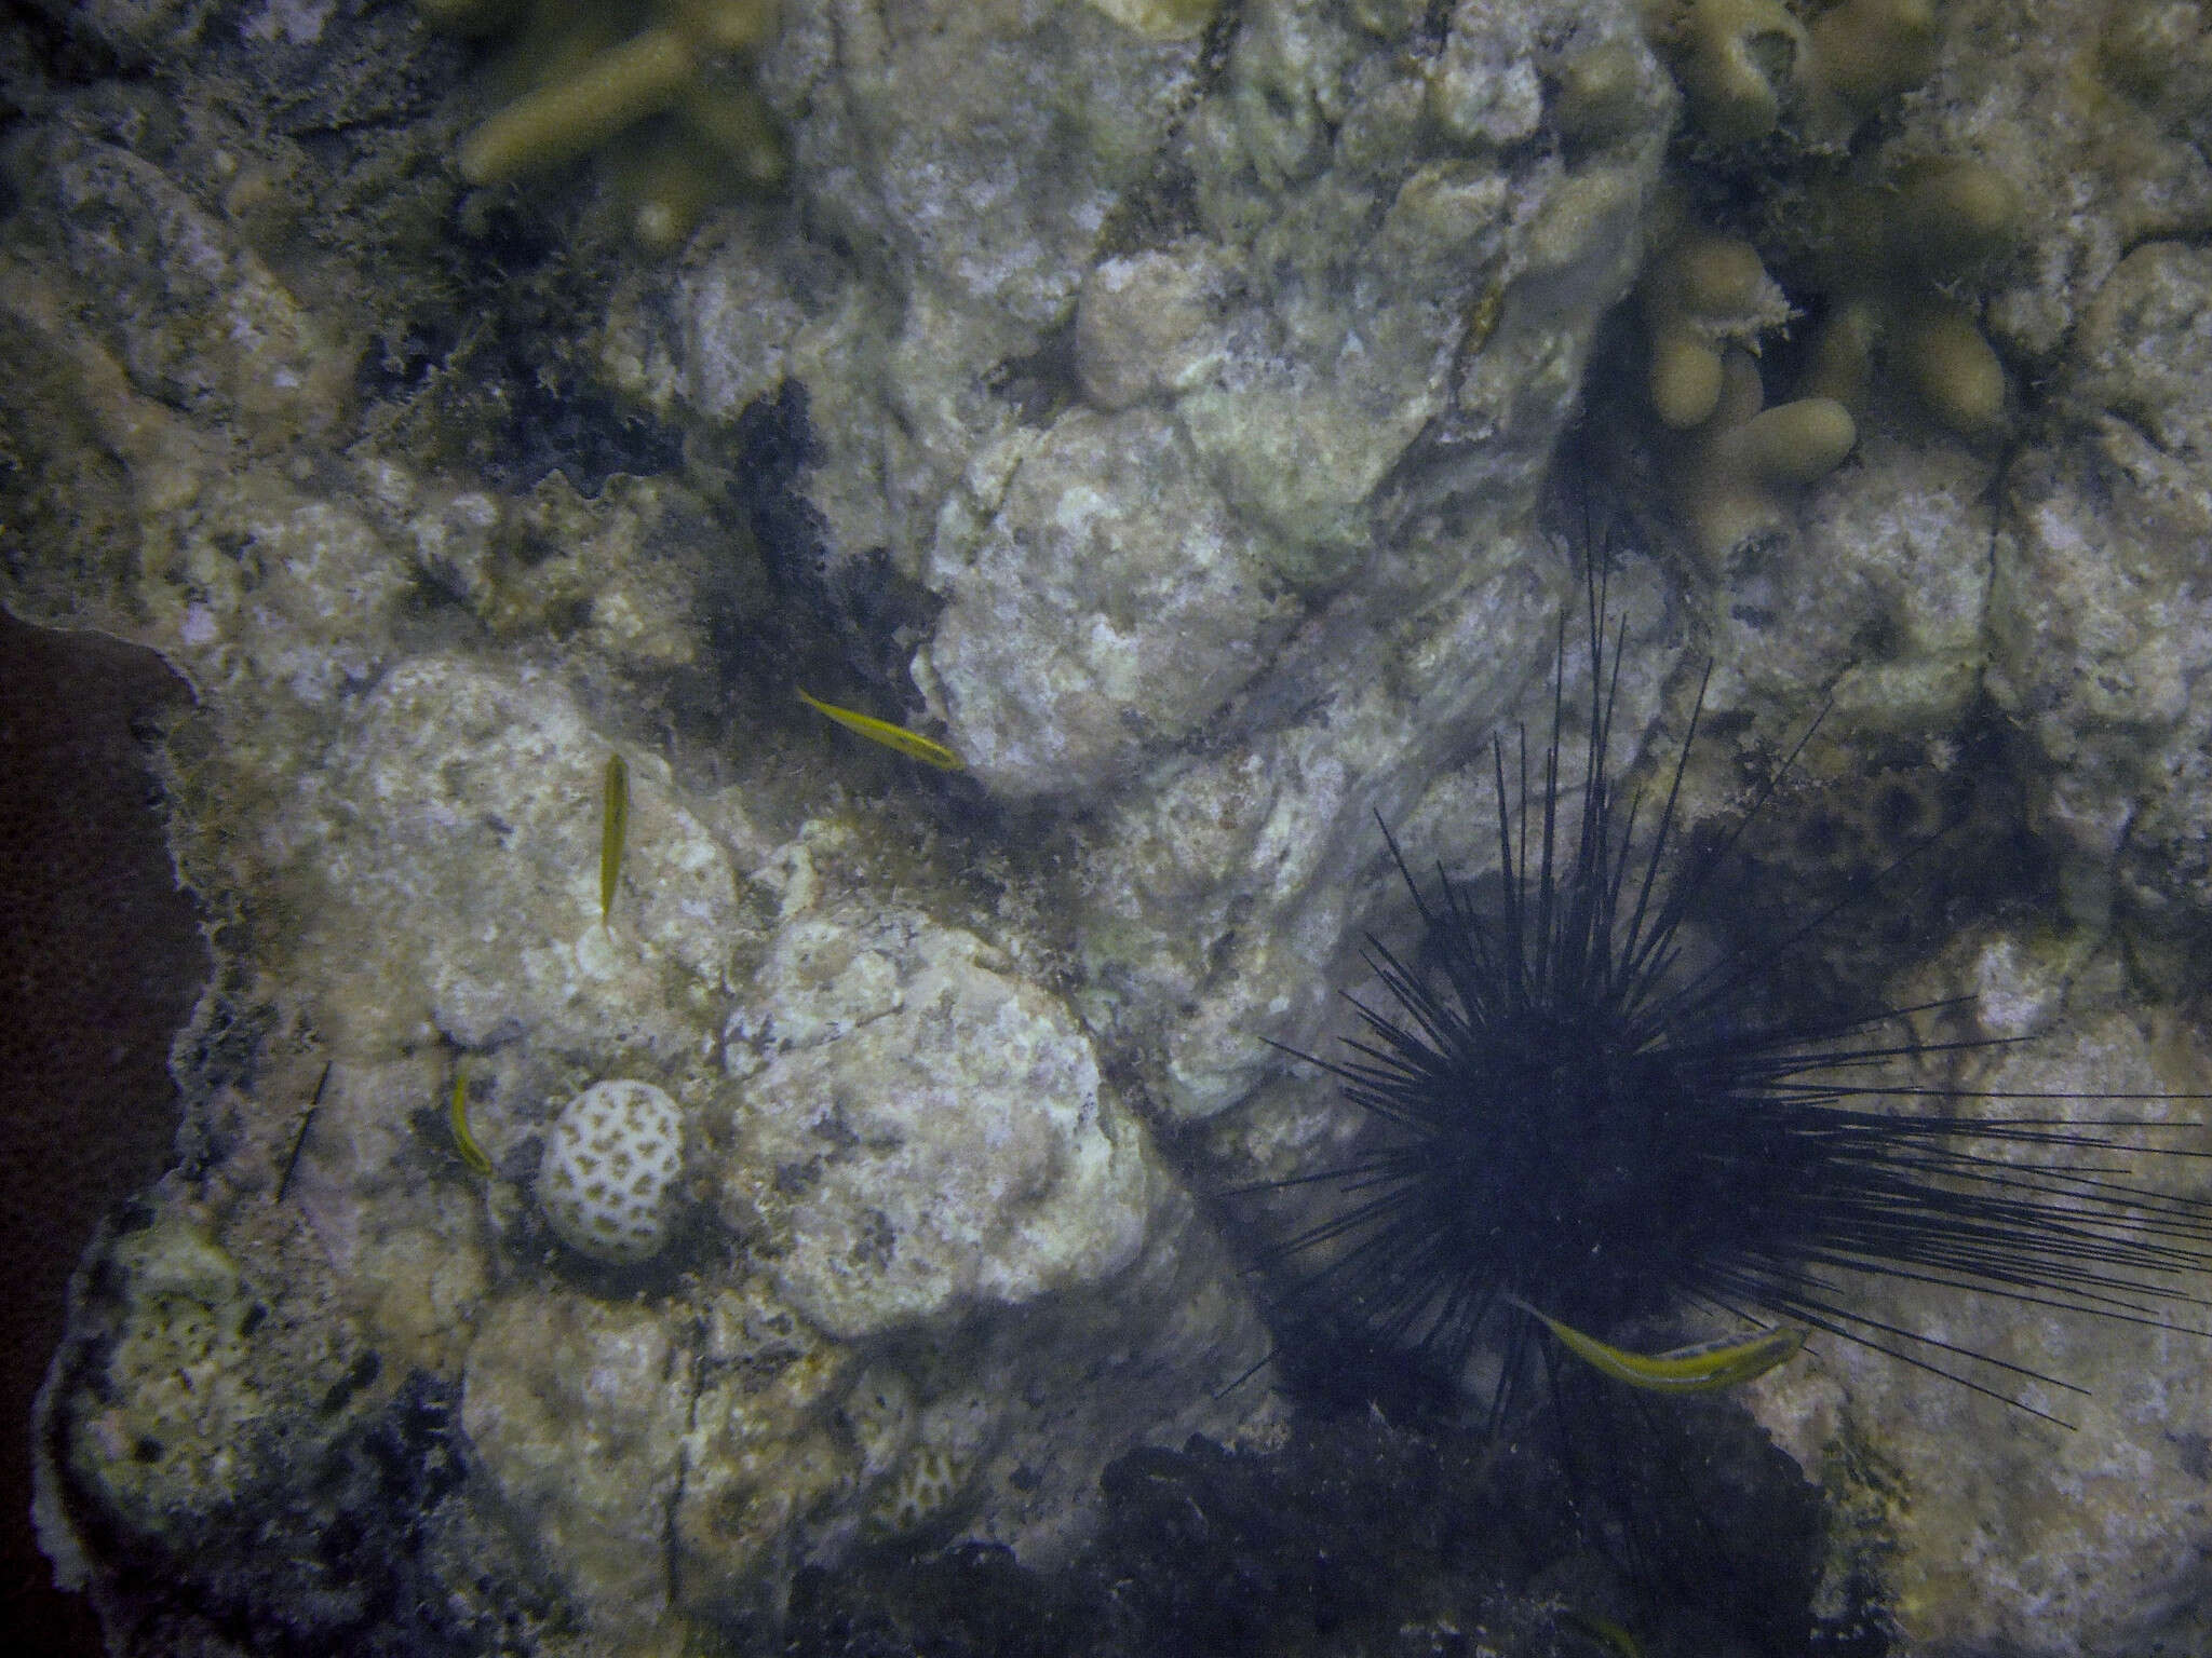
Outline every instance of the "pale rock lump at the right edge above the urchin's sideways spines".
[(2015, 464), (1997, 542), (1993, 688), (2048, 763), (2044, 831), (2077, 909), (2119, 902), (2163, 955), (2212, 917), (2208, 294), (2212, 263), (2174, 241), (2112, 270), (2062, 380), (2073, 440)]

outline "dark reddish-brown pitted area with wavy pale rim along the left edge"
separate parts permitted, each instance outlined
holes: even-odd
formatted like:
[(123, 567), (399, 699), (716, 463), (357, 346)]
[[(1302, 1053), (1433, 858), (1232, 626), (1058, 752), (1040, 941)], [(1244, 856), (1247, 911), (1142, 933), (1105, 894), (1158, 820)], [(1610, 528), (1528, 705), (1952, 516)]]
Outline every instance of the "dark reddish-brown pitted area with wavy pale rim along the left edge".
[(0, 1629), (27, 1658), (97, 1654), (31, 1536), (31, 1397), (93, 1227), (177, 1134), (170, 1039), (206, 977), (135, 730), (184, 701), (148, 650), (0, 612)]

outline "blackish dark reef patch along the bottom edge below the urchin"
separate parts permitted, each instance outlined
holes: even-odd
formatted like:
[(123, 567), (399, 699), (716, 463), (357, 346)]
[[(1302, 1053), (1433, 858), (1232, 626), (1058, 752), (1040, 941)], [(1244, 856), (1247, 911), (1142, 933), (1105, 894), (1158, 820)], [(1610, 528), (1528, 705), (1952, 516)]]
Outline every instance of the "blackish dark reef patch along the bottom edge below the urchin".
[(1599, 1658), (1624, 1649), (1593, 1634), (1606, 1625), (1650, 1654), (1840, 1651), (1812, 1609), (1820, 1499), (1739, 1406), (1610, 1428), (1582, 1421), (1575, 1479), (1546, 1424), (1491, 1437), (1374, 1408), (1301, 1413), (1272, 1452), (1135, 1450), (1106, 1470), (1099, 1534), (1066, 1567), (991, 1545), (807, 1567), (781, 1651)]

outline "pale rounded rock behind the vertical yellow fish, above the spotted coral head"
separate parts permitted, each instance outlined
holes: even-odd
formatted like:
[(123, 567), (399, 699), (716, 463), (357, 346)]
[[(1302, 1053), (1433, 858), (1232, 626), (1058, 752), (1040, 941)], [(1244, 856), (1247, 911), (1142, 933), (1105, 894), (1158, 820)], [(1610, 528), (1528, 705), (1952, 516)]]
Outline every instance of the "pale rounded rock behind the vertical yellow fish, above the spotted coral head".
[(285, 867), (349, 1039), (697, 1048), (739, 931), (728, 856), (633, 767), (626, 889), (602, 920), (608, 752), (560, 688), (458, 659), (411, 661), (358, 703)]

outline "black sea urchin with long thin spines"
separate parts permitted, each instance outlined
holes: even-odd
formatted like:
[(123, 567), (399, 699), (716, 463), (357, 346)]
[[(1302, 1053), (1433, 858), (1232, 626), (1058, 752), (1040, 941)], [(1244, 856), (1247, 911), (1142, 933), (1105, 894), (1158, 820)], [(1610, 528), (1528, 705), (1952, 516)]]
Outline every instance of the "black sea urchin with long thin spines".
[[(2139, 1185), (2121, 1145), (2172, 1125), (2022, 1121), (1991, 1114), (1993, 1094), (1902, 1085), (1896, 1063), (1927, 1048), (1880, 1032), (1929, 1008), (1770, 1012), (1774, 968), (1858, 900), (1692, 964), (1694, 913), (1772, 783), (1732, 833), (1681, 847), (1692, 716), (1639, 836), (1639, 802), (1608, 772), (1619, 632), (1608, 672), (1595, 586), (1588, 615), (1579, 807), (1562, 785), (1562, 668), (1540, 776), (1526, 734), (1517, 796), (1506, 745), (1491, 749), (1495, 898), (1442, 871), (1425, 889), (1389, 842), (1422, 937), (1411, 955), (1369, 942), (1391, 1006), (1354, 1001), (1352, 1057), (1314, 1059), (1376, 1134), (1354, 1161), (1281, 1183), (1345, 1194), (1281, 1247), (1318, 1262), (1290, 1293), (1294, 1318), (1453, 1379), (1495, 1346), (1498, 1415), (1537, 1375), (1533, 1355), (1557, 1357), (1533, 1311), (1621, 1340), (1690, 1309), (1803, 1324), (2033, 1410), (2020, 1384), (2070, 1384), (1854, 1311), (1854, 1278), (2157, 1324), (2201, 1307), (2190, 1276), (2212, 1265), (2212, 1205)], [(1562, 659), (1564, 643), (1562, 626)]]

